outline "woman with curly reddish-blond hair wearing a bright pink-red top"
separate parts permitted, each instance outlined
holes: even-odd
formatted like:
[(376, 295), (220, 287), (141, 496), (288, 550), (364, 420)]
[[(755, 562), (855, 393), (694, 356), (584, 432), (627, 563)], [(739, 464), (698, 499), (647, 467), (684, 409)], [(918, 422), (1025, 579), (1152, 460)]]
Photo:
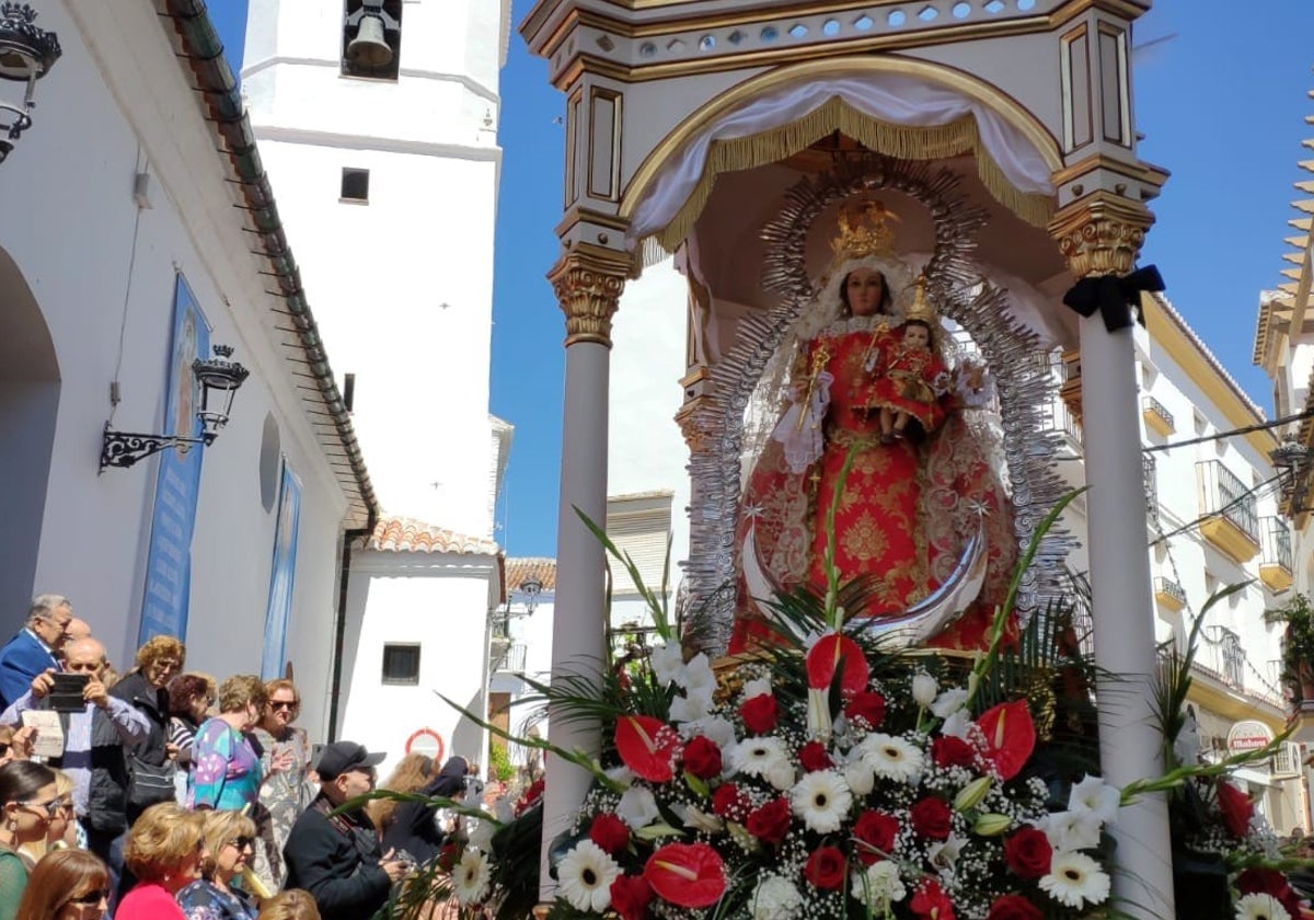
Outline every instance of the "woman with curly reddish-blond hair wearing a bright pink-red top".
[(127, 832), (124, 862), (137, 878), (118, 907), (114, 920), (187, 920), (173, 896), (201, 878), (205, 849), (205, 817), (173, 802), (152, 804)]

